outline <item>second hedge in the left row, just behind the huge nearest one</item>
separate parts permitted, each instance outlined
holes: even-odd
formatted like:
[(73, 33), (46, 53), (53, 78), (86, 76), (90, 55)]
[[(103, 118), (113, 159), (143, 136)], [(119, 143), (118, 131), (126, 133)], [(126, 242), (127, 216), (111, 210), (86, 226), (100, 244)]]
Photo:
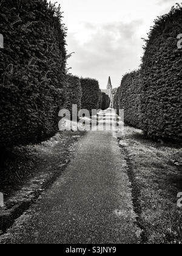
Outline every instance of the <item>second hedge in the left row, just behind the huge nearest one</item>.
[(81, 96), (82, 89), (78, 76), (73, 76), (71, 74), (66, 76), (66, 87), (65, 87), (65, 102), (64, 108), (68, 109), (72, 114), (72, 105), (76, 104), (78, 111), (81, 109)]

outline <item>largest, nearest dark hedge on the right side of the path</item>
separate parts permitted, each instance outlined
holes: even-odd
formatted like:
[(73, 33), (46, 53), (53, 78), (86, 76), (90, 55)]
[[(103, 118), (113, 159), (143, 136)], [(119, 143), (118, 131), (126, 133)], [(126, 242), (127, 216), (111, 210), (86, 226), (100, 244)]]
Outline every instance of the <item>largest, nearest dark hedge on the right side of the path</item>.
[(149, 137), (182, 140), (182, 7), (155, 20), (146, 41), (141, 72), (142, 127)]

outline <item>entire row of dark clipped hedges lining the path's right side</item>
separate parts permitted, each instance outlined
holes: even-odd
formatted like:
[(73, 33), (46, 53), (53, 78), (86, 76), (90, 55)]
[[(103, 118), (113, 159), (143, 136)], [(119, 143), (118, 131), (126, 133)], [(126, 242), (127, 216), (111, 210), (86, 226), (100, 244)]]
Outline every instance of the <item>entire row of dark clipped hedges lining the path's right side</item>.
[(158, 17), (144, 46), (141, 69), (123, 77), (114, 99), (127, 124), (150, 138), (182, 140), (182, 7)]

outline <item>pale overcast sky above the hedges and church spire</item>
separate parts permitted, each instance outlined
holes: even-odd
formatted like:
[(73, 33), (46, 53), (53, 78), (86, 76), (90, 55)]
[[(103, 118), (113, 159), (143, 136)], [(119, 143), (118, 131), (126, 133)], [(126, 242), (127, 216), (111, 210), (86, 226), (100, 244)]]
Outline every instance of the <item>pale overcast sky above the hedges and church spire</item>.
[[(111, 76), (113, 87), (137, 69), (143, 40), (153, 20), (177, 0), (51, 0), (61, 4), (68, 29), (67, 51), (72, 74), (92, 77), (101, 88)], [(181, 2), (181, 1), (180, 1)]]

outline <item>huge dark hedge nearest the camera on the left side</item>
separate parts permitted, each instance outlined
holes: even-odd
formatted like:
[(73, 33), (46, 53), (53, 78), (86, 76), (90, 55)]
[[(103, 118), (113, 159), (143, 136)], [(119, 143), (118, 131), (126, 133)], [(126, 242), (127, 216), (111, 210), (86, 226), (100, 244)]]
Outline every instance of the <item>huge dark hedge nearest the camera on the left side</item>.
[(0, 148), (36, 143), (58, 130), (66, 73), (61, 10), (45, 0), (1, 1)]

